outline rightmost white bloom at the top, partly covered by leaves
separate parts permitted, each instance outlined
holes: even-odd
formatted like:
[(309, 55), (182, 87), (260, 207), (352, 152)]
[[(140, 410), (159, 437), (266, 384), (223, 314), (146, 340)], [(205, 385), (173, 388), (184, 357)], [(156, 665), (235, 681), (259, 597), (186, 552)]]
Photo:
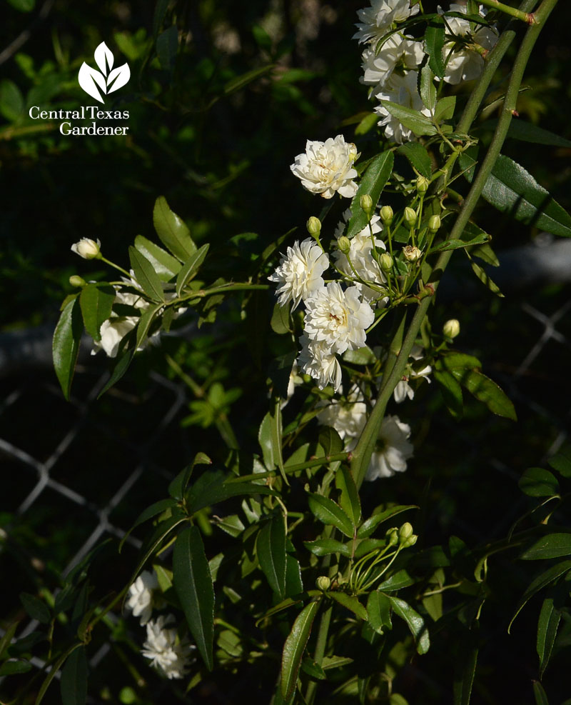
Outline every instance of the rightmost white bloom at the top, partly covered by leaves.
[[(450, 12), (461, 12), (466, 14), (466, 6), (457, 3), (450, 4)], [(486, 11), (482, 5), (479, 6), (478, 12), (484, 17)], [(454, 36), (465, 37), (472, 44), (480, 46), (485, 51), (493, 49), (497, 43), (499, 35), (492, 27), (476, 25), (468, 19), (461, 17), (446, 16), (445, 26), (447, 34)], [(459, 84), (460, 81), (472, 81), (477, 79), (484, 70), (484, 59), (481, 51), (475, 47), (470, 48), (465, 44), (460, 44), (456, 41), (448, 41), (443, 47), (443, 56), (446, 64), (444, 81), (449, 84)]]

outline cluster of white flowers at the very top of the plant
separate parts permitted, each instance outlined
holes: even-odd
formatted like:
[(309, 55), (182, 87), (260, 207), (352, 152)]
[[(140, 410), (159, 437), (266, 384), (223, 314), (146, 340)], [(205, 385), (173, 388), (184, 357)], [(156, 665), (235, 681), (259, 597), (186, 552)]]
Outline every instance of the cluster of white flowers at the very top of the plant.
[[(422, 39), (404, 34), (398, 24), (414, 16), (418, 4), (410, 6), (410, 0), (371, 0), (368, 8), (358, 10), (358, 31), (353, 39), (365, 43), (363, 51), (363, 76), (360, 81), (371, 86), (371, 97), (379, 101), (392, 101), (400, 106), (420, 111), (430, 116), (418, 93), (418, 67), (425, 56)], [(439, 14), (445, 14), (438, 7)], [(449, 12), (466, 14), (466, 5), (452, 3)], [(485, 10), (479, 6), (480, 16)], [(446, 33), (453, 37), (443, 48), (445, 61), (444, 81), (458, 84), (460, 81), (476, 79), (482, 73), (484, 59), (482, 51), (490, 51), (497, 41), (497, 32), (487, 26), (470, 25), (468, 19), (446, 16)], [(388, 39), (386, 35), (390, 34)], [(385, 38), (385, 39), (383, 39)], [(383, 44), (378, 47), (379, 41)], [(385, 128), (385, 136), (403, 144), (414, 139), (413, 131), (379, 104), (375, 112), (380, 116), (378, 124)]]

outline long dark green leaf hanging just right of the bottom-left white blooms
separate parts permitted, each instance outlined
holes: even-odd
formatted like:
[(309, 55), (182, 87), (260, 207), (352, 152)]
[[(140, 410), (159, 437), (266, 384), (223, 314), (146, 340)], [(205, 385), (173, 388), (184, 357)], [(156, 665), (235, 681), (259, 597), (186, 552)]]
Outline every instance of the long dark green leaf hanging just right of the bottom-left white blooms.
[(209, 671), (213, 669), (214, 588), (201, 532), (188, 526), (176, 537), (173, 584), (181, 601), (188, 629)]

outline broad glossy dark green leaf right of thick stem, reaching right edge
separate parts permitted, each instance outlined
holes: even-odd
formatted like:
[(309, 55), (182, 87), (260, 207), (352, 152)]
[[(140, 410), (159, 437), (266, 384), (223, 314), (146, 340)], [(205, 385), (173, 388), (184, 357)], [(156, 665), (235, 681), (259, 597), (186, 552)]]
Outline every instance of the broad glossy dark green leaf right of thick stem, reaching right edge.
[[(465, 176), (471, 182), (475, 161), (465, 152), (458, 161), (462, 169), (468, 169)], [(502, 213), (509, 213), (526, 225), (571, 236), (571, 216), (567, 211), (520, 164), (503, 154), (497, 158), (482, 196)]]

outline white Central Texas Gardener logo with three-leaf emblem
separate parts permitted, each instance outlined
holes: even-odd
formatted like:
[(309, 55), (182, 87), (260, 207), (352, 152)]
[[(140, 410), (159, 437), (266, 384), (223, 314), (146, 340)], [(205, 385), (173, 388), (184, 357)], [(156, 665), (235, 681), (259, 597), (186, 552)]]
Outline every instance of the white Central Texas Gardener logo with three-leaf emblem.
[[(92, 69), (84, 61), (79, 69), (78, 81), (81, 88), (91, 96), (105, 104), (108, 94), (122, 88), (131, 78), (131, 71), (127, 64), (113, 69), (113, 52), (108, 49), (104, 41), (95, 50), (94, 59), (100, 71)], [(76, 110), (42, 110), (40, 106), (31, 106), (29, 116), (33, 120), (63, 120), (59, 131), (64, 135), (126, 135), (128, 126), (99, 126), (96, 120), (127, 120), (127, 110), (102, 110), (99, 106), (81, 106)], [(89, 126), (77, 126), (71, 120), (85, 120), (90, 118), (94, 122)]]

